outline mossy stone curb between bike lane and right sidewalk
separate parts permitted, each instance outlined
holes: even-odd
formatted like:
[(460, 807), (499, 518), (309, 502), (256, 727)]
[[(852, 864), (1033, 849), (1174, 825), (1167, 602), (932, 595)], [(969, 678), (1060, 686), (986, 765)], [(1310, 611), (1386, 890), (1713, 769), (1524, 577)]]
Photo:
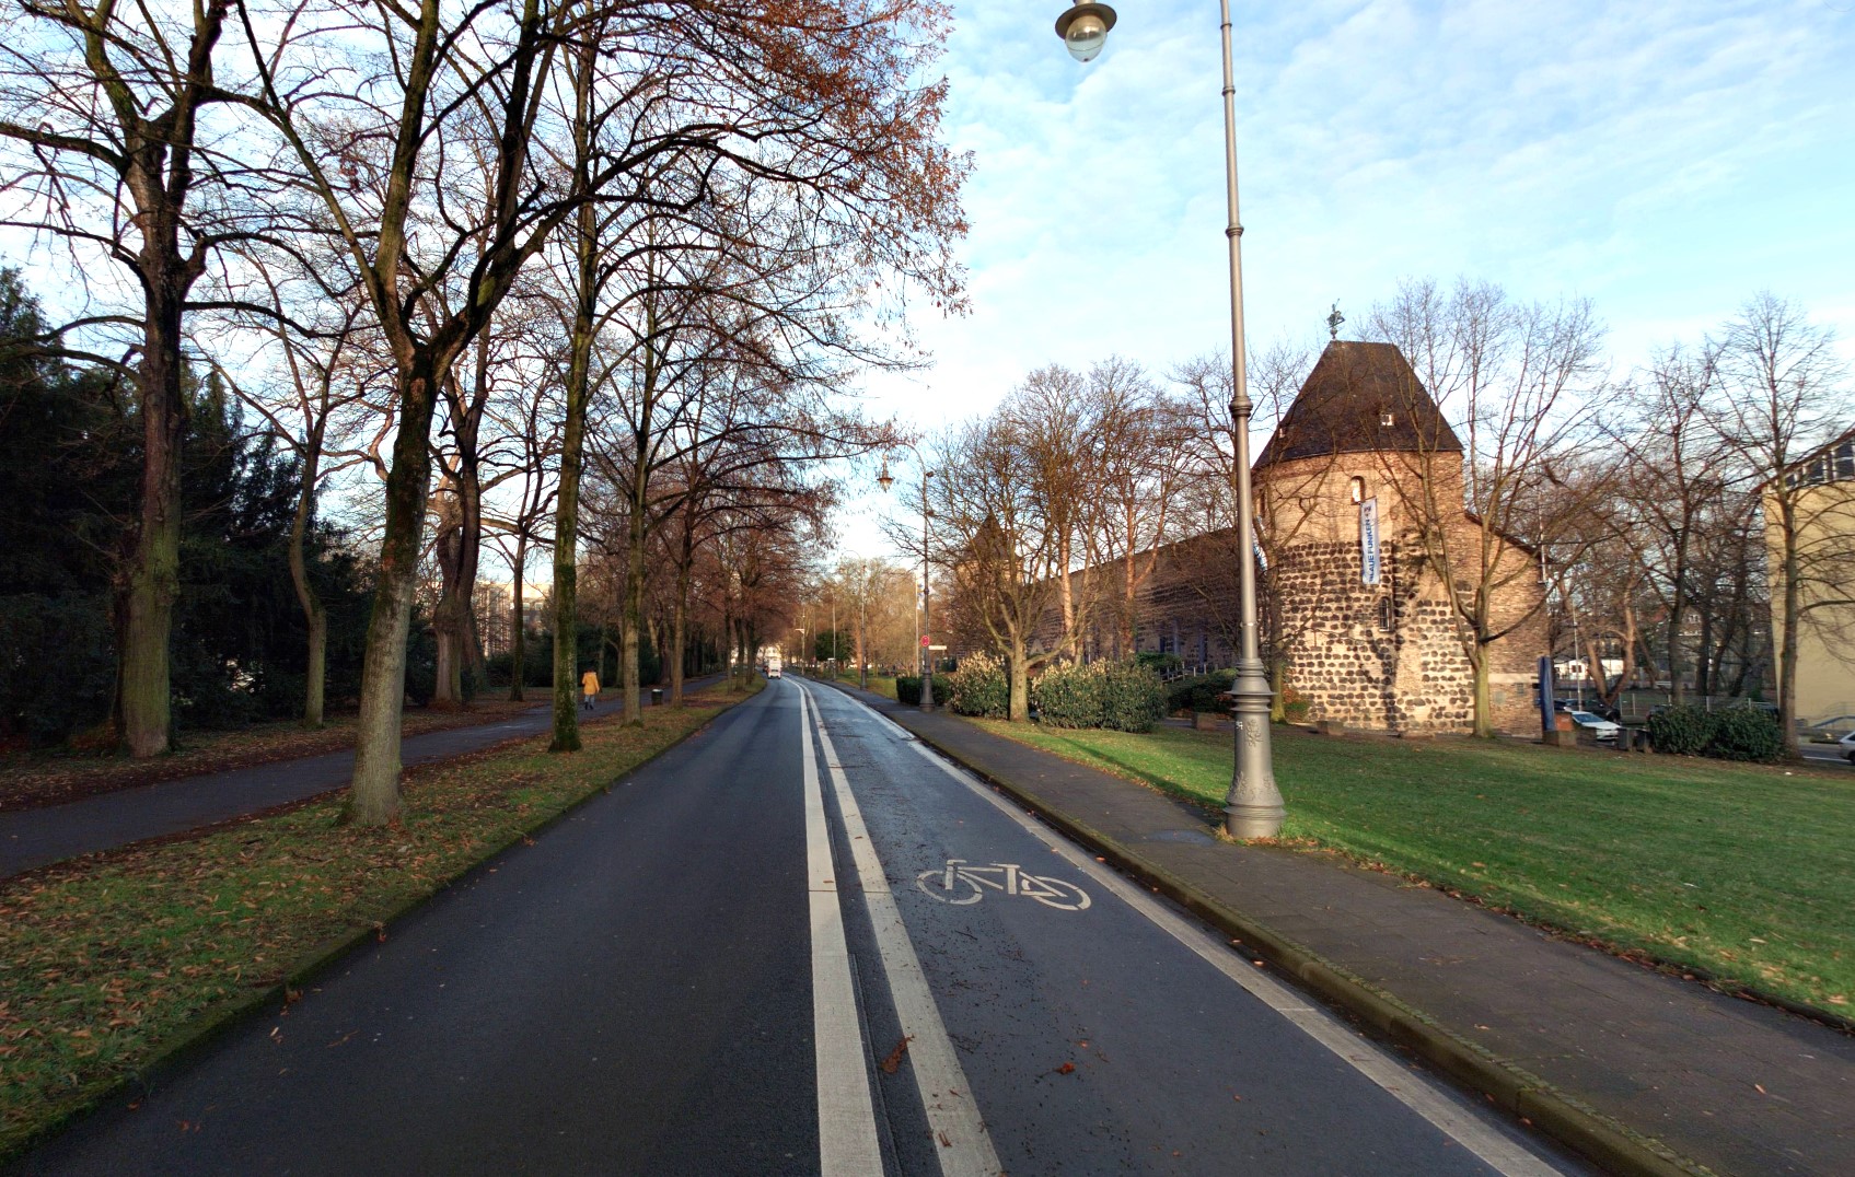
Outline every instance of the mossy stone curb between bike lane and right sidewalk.
[(994, 775), (961, 756), (955, 749), (937, 743), (928, 734), (915, 728), (909, 728), (909, 732), (1009, 795), (1030, 810), (1033, 817), (1096, 851), (1117, 869), (1167, 895), (1206, 923), (1226, 932), (1232, 940), (1241, 942), (1241, 945), (1256, 949), (1263, 960), (1300, 981), (1304, 988), (1328, 1005), (1356, 1018), (1378, 1038), (1412, 1051), (1430, 1066), (1475, 1088), (1508, 1114), (1525, 1120), (1534, 1129), (1603, 1166), (1606, 1171), (1625, 1177), (1712, 1177), (1712, 1170), (1707, 1166), (1681, 1157), (1662, 1142), (1634, 1133), (1573, 1095), (1556, 1090), (1525, 1068), (1443, 1027), (1395, 993), (1373, 986), (1323, 958), (1319, 953), (1274, 932), (1260, 919), (1196, 892), (1189, 882), (1165, 867), (1148, 862), (1107, 834), (1050, 806), (1035, 791)]

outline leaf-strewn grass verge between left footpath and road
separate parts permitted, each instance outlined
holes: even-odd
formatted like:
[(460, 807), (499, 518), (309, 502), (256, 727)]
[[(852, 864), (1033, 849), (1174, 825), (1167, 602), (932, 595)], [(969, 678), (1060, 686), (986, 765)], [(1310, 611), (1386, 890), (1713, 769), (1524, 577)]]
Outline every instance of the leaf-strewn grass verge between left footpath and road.
[(0, 1158), (757, 690), (588, 723), (573, 756), (538, 738), (408, 769), (397, 827), (336, 825), (338, 793), (0, 882)]

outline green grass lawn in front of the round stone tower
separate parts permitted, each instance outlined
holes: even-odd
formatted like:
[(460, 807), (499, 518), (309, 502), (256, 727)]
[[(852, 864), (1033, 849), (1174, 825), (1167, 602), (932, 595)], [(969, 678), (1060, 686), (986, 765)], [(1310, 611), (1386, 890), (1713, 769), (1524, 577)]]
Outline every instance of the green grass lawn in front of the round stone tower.
[[(987, 730), (1221, 806), (1232, 736)], [(1282, 838), (1566, 932), (1855, 1014), (1848, 773), (1274, 728)]]

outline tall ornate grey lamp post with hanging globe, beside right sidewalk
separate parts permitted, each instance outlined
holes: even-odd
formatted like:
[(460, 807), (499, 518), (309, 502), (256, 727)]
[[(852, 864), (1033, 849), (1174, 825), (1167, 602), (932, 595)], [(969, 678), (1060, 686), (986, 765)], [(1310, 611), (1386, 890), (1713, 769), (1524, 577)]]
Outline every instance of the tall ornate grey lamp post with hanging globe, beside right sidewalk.
[[(1282, 829), (1282, 791), (1274, 782), (1274, 756), (1269, 738), (1269, 675), (1263, 667), (1256, 625), (1256, 512), (1250, 491), (1250, 391), (1243, 352), (1243, 222), (1237, 217), (1237, 85), (1230, 57), (1230, 0), (1219, 0), (1224, 39), (1224, 185), (1230, 206), (1230, 417), (1235, 423), (1237, 463), (1237, 754), (1224, 797), (1224, 829), (1232, 838), (1271, 838)], [(1055, 32), (1076, 61), (1102, 52), (1107, 30), (1115, 28), (1115, 9), (1106, 4), (1076, 4), (1055, 20)]]

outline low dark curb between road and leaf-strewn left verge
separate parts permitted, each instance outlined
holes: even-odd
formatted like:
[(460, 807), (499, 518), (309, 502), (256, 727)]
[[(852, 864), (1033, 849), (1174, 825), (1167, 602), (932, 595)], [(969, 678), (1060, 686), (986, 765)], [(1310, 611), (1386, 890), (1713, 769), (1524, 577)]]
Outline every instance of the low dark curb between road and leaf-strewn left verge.
[[(755, 691), (753, 695), (759, 695), (759, 691)], [(215, 1006), (208, 1006), (206, 1010), (197, 1014), (191, 1021), (187, 1021), (184, 1027), (176, 1029), (163, 1042), (160, 1042), (154, 1047), (154, 1053), (139, 1066), (130, 1068), (111, 1079), (98, 1079), (95, 1084), (82, 1088), (69, 1099), (67, 1107), (54, 1120), (39, 1125), (37, 1129), (19, 1138), (17, 1142), (0, 1147), (0, 1168), (11, 1168), (13, 1162), (22, 1158), (33, 1147), (45, 1144), (52, 1136), (58, 1136), (59, 1133), (65, 1133), (85, 1116), (96, 1112), (104, 1103), (108, 1103), (115, 1095), (122, 1095), (135, 1090), (141, 1090), (143, 1094), (152, 1092), (161, 1079), (173, 1075), (180, 1068), (198, 1058), (208, 1047), (211, 1047), (215, 1042), (230, 1034), (234, 1029), (241, 1027), (245, 1021), (254, 1019), (260, 1012), (273, 1008), (278, 1010), (280, 1014), (288, 1012), (289, 1005), (295, 1001), (295, 995), (301, 995), (301, 990), (304, 986), (308, 986), (317, 977), (321, 977), (336, 964), (345, 960), (351, 953), (358, 951), (369, 942), (375, 943), (384, 942), (386, 930), (390, 927), (406, 919), (408, 916), (423, 908), (432, 899), (438, 899), (451, 888), (467, 882), (486, 864), (503, 856), (516, 845), (521, 845), (523, 842), (529, 842), (538, 834), (544, 834), (560, 821), (571, 817), (581, 806), (586, 806), (595, 799), (608, 795), (616, 784), (636, 775), (660, 756), (670, 754), (672, 751), (694, 740), (701, 732), (707, 732), (716, 717), (740, 706), (748, 699), (753, 699), (753, 695), (729, 702), (701, 727), (692, 728), (684, 732), (679, 740), (673, 740), (672, 743), (666, 743), (664, 747), (657, 749), (655, 753), (651, 753), (638, 764), (631, 766), (612, 780), (607, 780), (601, 786), (586, 790), (582, 797), (569, 801), (560, 812), (538, 817), (532, 823), (518, 829), (503, 843), (495, 845), (495, 849), (486, 851), (480, 858), (477, 858), (477, 862), (464, 867), (451, 879), (440, 882), (432, 890), (408, 895), (401, 903), (391, 905), (380, 918), (371, 919), (367, 923), (356, 923), (352, 930), (343, 932), (339, 936), (332, 936), (330, 940), (323, 942), (319, 947), (312, 949), (302, 960), (293, 964), (289, 971), (284, 973), (282, 981), (276, 981), (275, 984), (269, 984), (262, 990), (252, 990), (250, 993), (228, 997), (226, 1001)], [(523, 740), (534, 740), (544, 736), (545, 732), (540, 732), (538, 736), (525, 736)], [(506, 747), (510, 743), (516, 743), (516, 740), (508, 740), (477, 751), (479, 753), (493, 751), (499, 747)]]

